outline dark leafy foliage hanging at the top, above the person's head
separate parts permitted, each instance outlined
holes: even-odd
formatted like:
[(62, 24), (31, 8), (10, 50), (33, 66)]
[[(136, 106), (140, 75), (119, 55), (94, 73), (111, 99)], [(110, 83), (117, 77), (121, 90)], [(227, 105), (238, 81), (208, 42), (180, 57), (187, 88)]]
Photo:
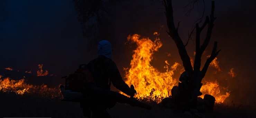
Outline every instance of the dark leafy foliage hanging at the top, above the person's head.
[(82, 26), (82, 34), (90, 42), (113, 35), (115, 8), (120, 0), (73, 0), (73, 2), (77, 20)]

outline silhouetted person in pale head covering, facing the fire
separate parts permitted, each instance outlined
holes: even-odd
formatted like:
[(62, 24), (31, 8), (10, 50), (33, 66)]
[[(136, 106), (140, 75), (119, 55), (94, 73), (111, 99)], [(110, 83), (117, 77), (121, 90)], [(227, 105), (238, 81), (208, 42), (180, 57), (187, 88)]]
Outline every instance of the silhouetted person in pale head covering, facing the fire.
[[(111, 83), (121, 92), (133, 97), (137, 94), (134, 88), (130, 88), (123, 80), (118, 71), (118, 68), (111, 60), (112, 47), (109, 41), (102, 40), (98, 43), (98, 58), (92, 60), (93, 68), (95, 70), (93, 80), (94, 85), (99, 88), (110, 90)], [(94, 86), (93, 85), (93, 86)], [(95, 93), (89, 93), (93, 96)], [(94, 95), (95, 96), (95, 95)], [(90, 110), (92, 111), (93, 118), (110, 118), (110, 115), (106, 111), (107, 108), (115, 106), (116, 101), (109, 99), (108, 96), (98, 96), (90, 102), (88, 107), (83, 107), (83, 113), (85, 116), (90, 116)]]

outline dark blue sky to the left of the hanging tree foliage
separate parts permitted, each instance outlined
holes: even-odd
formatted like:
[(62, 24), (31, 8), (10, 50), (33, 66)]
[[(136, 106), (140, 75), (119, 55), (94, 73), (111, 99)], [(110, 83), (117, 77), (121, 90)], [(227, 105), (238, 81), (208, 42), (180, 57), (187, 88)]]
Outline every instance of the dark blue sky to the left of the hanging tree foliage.
[(84, 49), (71, 0), (4, 0), (0, 23), (1, 67), (24, 71), (44, 64), (43, 68), (51, 69)]

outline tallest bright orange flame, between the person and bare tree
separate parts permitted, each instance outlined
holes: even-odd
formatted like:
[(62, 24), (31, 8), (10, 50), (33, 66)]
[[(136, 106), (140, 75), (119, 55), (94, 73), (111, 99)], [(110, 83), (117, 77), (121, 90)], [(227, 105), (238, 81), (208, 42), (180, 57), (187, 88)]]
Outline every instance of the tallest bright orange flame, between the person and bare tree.
[(176, 83), (173, 79), (174, 70), (179, 66), (176, 63), (172, 66), (165, 61), (165, 72), (159, 72), (158, 69), (151, 66), (150, 62), (153, 59), (155, 51), (162, 46), (158, 38), (152, 42), (149, 38), (143, 38), (138, 34), (129, 35), (128, 41), (137, 44), (137, 49), (134, 50), (129, 71), (125, 68), (128, 85), (133, 84), (137, 90), (136, 98), (151, 97), (152, 100), (161, 102), (163, 97), (168, 97), (168, 92)]

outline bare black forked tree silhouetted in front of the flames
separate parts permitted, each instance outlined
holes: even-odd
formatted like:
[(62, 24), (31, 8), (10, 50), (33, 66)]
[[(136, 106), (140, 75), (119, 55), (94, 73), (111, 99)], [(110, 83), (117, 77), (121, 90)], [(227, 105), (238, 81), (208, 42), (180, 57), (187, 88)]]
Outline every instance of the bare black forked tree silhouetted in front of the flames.
[[(167, 26), (169, 29), (168, 34), (172, 37), (173, 41), (175, 42), (178, 50), (179, 55), (181, 57), (181, 60), (183, 62), (183, 66), (185, 68), (185, 72), (188, 73), (188, 79), (186, 80), (186, 86), (188, 89), (181, 90), (182, 88), (182, 82), (179, 83), (179, 94), (177, 95), (177, 99), (179, 99), (179, 102), (183, 102), (185, 105), (184, 107), (186, 109), (191, 109), (196, 107), (197, 98), (198, 96), (202, 95), (200, 92), (200, 88), (202, 87), (202, 79), (205, 76), (205, 73), (210, 65), (210, 63), (214, 60), (214, 58), (218, 55), (220, 50), (217, 51), (217, 42), (214, 42), (214, 46), (212, 49), (212, 53), (210, 57), (205, 62), (203, 68), (200, 70), (201, 67), (201, 57), (202, 54), (209, 44), (212, 29), (213, 29), (213, 22), (216, 19), (214, 17), (214, 1), (211, 3), (211, 14), (210, 17), (207, 16), (205, 18), (204, 23), (199, 26), (199, 23), (195, 24), (195, 30), (196, 30), (196, 36), (195, 36), (195, 58), (194, 58), (194, 67), (192, 67), (192, 64), (190, 62), (190, 57), (185, 49), (185, 45), (183, 44), (181, 37), (178, 33), (178, 28), (174, 25), (174, 16), (173, 16), (173, 7), (172, 7), (172, 0), (164, 0), (163, 1), (165, 12), (166, 12), (166, 19), (167, 19)], [(208, 26), (207, 33), (205, 36), (205, 39), (203, 39), (202, 45), (200, 44), (200, 34), (202, 30)], [(173, 93), (172, 93), (173, 94)]]

